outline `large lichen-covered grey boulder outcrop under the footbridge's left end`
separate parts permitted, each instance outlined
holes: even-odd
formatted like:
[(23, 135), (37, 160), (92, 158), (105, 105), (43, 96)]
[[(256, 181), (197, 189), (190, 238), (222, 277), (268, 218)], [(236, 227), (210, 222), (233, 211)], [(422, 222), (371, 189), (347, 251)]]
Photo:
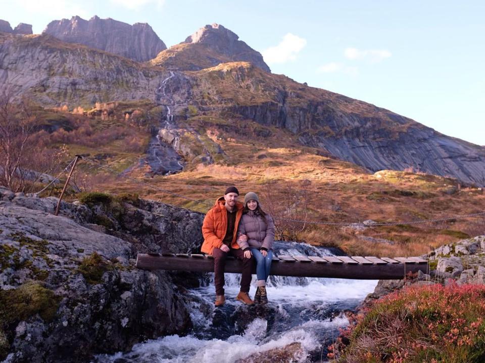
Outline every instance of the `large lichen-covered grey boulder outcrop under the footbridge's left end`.
[(198, 251), (202, 214), (94, 194), (55, 216), (56, 203), (0, 189), (0, 359), (87, 361), (190, 327), (182, 280), (134, 258)]

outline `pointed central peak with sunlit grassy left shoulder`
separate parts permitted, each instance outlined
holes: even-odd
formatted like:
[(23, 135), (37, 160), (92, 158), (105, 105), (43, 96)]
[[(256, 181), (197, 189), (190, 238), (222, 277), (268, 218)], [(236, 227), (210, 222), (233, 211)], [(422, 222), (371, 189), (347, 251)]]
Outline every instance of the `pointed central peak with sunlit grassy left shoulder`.
[(263, 71), (271, 72), (260, 52), (219, 24), (200, 28), (182, 43), (159, 53), (151, 64), (171, 70), (199, 71), (234, 61), (250, 62)]

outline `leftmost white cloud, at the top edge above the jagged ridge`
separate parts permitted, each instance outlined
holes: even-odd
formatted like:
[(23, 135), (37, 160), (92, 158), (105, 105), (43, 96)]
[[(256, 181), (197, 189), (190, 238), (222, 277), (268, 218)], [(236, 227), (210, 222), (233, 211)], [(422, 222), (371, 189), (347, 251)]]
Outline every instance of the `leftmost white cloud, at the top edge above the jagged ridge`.
[(85, 18), (90, 13), (85, 5), (69, 0), (18, 0), (17, 4), (29, 13), (48, 14), (53, 18), (52, 20), (55, 18), (70, 19), (75, 15)]

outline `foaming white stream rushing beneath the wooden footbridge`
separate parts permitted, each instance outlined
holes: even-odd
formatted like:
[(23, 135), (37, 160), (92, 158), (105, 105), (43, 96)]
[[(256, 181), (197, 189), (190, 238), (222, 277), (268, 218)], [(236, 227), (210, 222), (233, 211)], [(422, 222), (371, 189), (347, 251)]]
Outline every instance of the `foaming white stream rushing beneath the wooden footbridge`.
[[(278, 243), (277, 255), (333, 256), (329, 249)], [(288, 268), (291, 268), (288, 264)], [(226, 304), (214, 308), (214, 276), (189, 290), (193, 329), (187, 336), (161, 337), (137, 344), (129, 353), (100, 355), (95, 363), (233, 363), (273, 348), (299, 343), (296, 361), (326, 361), (326, 348), (339, 328), (348, 324), (345, 311), (354, 310), (372, 292), (375, 280), (270, 276), (269, 304), (247, 307), (234, 300), (238, 274), (225, 274)], [(250, 294), (254, 295), (256, 276)]]

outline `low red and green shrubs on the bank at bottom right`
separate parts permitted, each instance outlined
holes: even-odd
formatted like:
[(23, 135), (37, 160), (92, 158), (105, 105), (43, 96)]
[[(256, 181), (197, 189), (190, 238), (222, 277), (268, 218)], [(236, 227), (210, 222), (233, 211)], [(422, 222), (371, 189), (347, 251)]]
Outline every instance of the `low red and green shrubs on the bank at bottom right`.
[(339, 361), (481, 363), (484, 337), (485, 286), (412, 286), (377, 300), (343, 331)]

